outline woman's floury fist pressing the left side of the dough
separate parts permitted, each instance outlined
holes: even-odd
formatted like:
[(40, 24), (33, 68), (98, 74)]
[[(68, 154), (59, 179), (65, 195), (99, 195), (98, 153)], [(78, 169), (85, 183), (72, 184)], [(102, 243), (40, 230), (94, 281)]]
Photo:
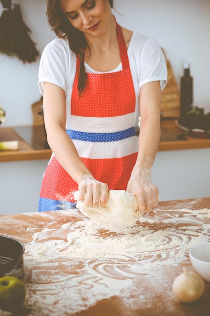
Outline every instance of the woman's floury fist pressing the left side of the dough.
[(86, 203), (89, 207), (104, 207), (108, 201), (108, 185), (99, 182), (96, 179), (85, 176), (79, 184), (79, 199), (84, 201), (86, 194)]

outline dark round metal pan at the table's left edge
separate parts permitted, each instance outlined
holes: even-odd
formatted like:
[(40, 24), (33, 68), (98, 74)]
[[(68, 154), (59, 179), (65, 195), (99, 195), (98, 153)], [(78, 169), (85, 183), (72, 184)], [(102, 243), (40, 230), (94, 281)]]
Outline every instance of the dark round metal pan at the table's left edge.
[(0, 278), (5, 276), (24, 278), (22, 242), (8, 236), (0, 235)]

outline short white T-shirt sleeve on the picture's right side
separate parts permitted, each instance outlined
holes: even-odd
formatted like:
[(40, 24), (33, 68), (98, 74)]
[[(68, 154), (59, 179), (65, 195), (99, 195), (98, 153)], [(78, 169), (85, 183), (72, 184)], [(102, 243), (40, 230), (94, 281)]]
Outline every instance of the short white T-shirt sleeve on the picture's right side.
[(167, 66), (163, 51), (154, 38), (145, 42), (139, 63), (138, 88), (148, 82), (160, 81), (161, 90), (167, 84)]

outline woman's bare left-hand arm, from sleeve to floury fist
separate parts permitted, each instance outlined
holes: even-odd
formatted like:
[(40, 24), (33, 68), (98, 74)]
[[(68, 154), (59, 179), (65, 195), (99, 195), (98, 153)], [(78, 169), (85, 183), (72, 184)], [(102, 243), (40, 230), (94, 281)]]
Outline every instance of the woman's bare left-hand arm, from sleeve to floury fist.
[(57, 85), (45, 82), (43, 93), (44, 122), (47, 142), (56, 159), (66, 172), (78, 183), (80, 199), (87, 192), (87, 204), (105, 205), (108, 200), (108, 186), (97, 181), (86, 168), (77, 149), (65, 132), (65, 92)]

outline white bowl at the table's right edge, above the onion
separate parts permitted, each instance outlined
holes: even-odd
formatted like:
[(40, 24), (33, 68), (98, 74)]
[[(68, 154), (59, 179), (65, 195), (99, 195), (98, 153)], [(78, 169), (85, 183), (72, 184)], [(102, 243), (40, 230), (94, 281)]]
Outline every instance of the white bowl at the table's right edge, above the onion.
[(189, 257), (195, 271), (205, 281), (210, 282), (210, 242), (204, 242), (191, 248)]

